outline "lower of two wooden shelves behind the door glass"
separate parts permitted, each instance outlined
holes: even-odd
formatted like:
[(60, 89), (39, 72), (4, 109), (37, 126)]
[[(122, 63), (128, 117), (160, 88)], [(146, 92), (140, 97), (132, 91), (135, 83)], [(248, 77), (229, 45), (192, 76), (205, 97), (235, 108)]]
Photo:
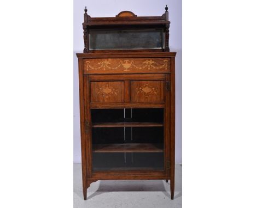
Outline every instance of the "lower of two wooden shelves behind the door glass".
[(163, 152), (159, 143), (94, 144), (93, 152)]

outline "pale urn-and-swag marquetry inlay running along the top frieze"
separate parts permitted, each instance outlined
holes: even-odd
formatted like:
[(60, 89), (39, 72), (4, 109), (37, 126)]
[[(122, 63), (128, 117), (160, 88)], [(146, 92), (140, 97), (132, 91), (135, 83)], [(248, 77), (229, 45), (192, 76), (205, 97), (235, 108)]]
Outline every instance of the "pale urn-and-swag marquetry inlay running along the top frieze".
[(155, 58), (145, 59), (90, 59), (85, 61), (86, 71), (95, 71), (95, 70), (167, 70), (168, 69), (168, 59), (164, 58)]

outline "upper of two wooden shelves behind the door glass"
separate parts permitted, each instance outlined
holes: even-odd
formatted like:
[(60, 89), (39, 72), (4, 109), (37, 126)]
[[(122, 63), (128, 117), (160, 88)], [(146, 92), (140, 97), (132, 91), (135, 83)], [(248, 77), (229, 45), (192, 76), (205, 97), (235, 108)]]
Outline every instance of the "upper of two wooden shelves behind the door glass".
[(157, 127), (164, 126), (162, 123), (154, 122), (117, 122), (117, 123), (95, 123), (92, 127)]

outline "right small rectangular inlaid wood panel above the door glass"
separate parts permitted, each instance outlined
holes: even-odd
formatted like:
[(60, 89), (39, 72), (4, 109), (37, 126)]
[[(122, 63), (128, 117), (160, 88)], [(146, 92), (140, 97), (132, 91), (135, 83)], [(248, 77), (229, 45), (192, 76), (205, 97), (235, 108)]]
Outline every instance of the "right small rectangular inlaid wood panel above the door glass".
[(164, 101), (164, 81), (131, 81), (131, 102)]

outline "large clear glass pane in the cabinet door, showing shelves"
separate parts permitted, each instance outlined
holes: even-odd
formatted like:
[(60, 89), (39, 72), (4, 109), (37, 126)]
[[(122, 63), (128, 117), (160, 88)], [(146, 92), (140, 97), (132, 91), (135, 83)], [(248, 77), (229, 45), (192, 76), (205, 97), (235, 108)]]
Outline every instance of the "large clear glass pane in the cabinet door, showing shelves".
[(92, 170), (164, 170), (164, 109), (91, 109)]

